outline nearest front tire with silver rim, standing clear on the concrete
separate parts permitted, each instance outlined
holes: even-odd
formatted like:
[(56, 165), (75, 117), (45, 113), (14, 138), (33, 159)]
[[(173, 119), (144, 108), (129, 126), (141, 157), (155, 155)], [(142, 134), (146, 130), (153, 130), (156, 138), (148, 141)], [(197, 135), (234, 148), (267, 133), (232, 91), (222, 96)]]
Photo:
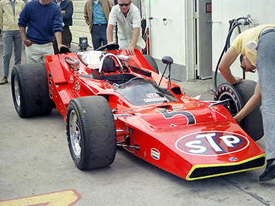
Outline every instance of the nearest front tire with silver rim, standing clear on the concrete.
[(80, 170), (111, 165), (116, 152), (116, 130), (108, 101), (102, 96), (75, 98), (67, 108), (69, 152)]

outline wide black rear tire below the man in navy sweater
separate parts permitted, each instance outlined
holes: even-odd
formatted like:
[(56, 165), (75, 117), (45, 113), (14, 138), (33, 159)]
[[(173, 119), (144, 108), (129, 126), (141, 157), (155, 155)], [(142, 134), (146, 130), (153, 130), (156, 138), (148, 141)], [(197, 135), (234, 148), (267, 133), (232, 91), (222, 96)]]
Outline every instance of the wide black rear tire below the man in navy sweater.
[(45, 64), (15, 65), (12, 68), (12, 99), (22, 118), (48, 115), (54, 108), (49, 95)]

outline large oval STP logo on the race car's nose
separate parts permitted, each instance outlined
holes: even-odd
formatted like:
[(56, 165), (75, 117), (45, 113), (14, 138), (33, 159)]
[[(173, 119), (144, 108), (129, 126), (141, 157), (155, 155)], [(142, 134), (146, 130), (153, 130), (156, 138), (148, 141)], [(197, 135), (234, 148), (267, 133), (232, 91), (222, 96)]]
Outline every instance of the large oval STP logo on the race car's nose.
[(236, 133), (208, 131), (181, 137), (175, 147), (190, 155), (217, 156), (243, 150), (249, 144), (246, 137)]

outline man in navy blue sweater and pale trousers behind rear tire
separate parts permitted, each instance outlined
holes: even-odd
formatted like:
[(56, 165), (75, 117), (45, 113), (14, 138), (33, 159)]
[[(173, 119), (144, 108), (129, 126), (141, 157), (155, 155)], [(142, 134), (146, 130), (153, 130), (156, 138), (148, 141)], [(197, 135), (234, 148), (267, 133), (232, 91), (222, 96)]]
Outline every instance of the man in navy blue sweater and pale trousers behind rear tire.
[(30, 1), (25, 5), (18, 25), (28, 63), (44, 62), (45, 55), (54, 55), (54, 35), (58, 49), (66, 47), (62, 45), (62, 19), (61, 8), (52, 0)]

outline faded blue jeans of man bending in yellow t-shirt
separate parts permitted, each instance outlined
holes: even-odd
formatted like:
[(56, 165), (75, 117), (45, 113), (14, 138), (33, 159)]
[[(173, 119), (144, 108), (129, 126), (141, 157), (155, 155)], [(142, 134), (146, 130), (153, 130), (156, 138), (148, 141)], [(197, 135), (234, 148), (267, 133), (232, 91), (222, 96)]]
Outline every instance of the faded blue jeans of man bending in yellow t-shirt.
[(257, 46), (256, 68), (262, 95), (261, 113), (267, 159), (275, 158), (275, 32), (264, 34)]

